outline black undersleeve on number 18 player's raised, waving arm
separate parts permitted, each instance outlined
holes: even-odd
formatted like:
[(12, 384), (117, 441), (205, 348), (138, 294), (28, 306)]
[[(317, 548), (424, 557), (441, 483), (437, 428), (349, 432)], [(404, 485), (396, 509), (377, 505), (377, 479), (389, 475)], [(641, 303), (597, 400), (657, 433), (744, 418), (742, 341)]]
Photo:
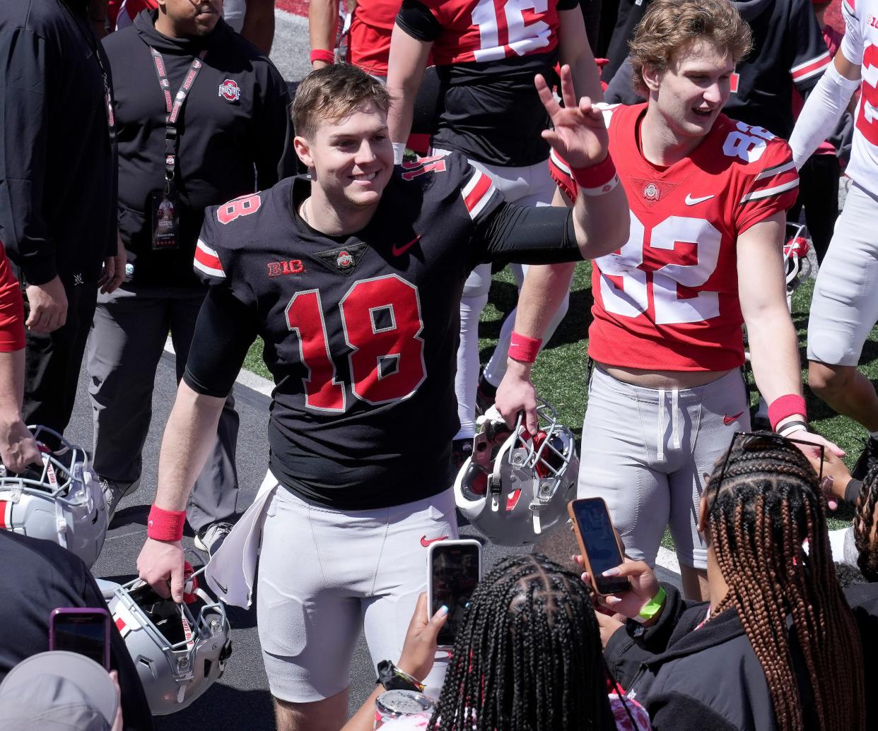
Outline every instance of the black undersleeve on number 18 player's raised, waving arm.
[(476, 238), (484, 242), (483, 262), (558, 264), (582, 261), (571, 208), (556, 205), (531, 208), (504, 202), (489, 216), (477, 220)]

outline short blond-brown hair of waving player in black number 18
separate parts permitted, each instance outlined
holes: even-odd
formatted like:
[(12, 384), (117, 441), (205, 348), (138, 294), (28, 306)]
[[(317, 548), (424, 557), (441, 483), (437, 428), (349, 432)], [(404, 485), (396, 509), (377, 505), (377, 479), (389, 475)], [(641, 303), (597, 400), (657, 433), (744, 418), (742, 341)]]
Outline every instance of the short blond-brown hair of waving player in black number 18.
[(382, 111), (390, 107), (384, 86), (365, 71), (347, 63), (318, 68), (299, 84), (292, 101), (296, 134), (313, 140), (320, 122), (336, 122), (372, 102)]

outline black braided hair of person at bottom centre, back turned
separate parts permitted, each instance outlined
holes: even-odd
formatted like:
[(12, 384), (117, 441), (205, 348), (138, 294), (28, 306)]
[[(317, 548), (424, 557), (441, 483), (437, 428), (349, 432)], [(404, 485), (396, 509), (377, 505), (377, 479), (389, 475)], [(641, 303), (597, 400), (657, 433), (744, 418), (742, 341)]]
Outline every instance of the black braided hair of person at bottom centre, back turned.
[(429, 728), (615, 731), (586, 584), (539, 554), (501, 560), (473, 592)]

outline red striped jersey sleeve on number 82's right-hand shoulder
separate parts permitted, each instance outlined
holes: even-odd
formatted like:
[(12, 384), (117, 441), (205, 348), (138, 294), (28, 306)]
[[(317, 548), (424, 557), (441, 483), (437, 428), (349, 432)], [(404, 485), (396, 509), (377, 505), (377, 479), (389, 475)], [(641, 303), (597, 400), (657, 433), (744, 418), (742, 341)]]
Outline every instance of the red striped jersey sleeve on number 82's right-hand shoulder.
[(738, 202), (738, 234), (775, 213), (787, 211), (799, 194), (799, 173), (785, 140), (769, 140), (759, 161), (747, 166), (749, 180)]

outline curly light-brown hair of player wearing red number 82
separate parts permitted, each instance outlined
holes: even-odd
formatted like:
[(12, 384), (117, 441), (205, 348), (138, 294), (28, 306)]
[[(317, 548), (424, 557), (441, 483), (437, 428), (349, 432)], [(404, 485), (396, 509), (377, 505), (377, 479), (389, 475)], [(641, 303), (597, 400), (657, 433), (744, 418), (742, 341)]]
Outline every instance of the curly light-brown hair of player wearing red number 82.
[(661, 73), (674, 52), (695, 39), (727, 48), (738, 63), (751, 48), (750, 26), (729, 0), (655, 0), (629, 41), (631, 83), (646, 95), (644, 66)]

